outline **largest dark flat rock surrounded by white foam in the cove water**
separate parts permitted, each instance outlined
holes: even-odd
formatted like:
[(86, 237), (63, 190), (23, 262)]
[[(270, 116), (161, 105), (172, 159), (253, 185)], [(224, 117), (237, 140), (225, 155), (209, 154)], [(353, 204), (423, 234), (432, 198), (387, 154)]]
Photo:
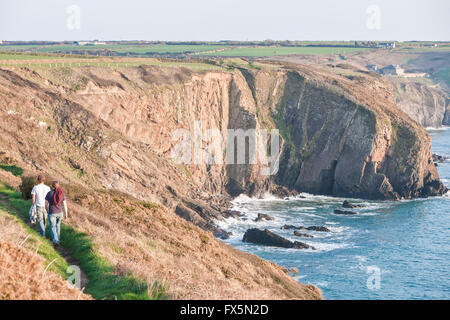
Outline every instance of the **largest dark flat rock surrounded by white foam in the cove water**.
[(311, 248), (315, 250), (314, 247), (299, 241), (289, 241), (267, 229), (248, 229), (244, 238), (242, 239), (244, 242), (250, 242), (255, 244), (260, 244), (263, 246), (271, 246), (271, 247), (280, 247), (280, 248), (292, 248), (292, 249), (308, 249)]

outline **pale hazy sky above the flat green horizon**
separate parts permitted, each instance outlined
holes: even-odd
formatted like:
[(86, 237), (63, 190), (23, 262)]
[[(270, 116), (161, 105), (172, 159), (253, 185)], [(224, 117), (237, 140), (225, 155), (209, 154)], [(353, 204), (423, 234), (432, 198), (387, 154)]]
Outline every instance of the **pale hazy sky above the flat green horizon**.
[(2, 40), (450, 40), (450, 0), (0, 0)]

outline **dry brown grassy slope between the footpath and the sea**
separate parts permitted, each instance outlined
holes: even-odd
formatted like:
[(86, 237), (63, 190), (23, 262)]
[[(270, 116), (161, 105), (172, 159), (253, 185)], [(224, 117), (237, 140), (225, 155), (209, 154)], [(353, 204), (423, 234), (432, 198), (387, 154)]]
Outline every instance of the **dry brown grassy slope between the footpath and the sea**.
[[(114, 200), (113, 200), (114, 198)], [(162, 208), (117, 194), (71, 204), (70, 224), (94, 239), (119, 274), (132, 273), (169, 299), (320, 299), (282, 267), (240, 252)]]

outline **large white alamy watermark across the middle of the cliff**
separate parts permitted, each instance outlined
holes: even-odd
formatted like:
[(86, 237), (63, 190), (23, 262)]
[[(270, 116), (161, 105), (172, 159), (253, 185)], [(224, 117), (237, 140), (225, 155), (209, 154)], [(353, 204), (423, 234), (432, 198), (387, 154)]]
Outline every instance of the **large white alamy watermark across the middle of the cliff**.
[(219, 129), (203, 130), (202, 123), (195, 121), (193, 134), (177, 129), (171, 138), (177, 142), (171, 157), (178, 164), (258, 164), (261, 175), (278, 172), (280, 135), (276, 129), (228, 129), (224, 139)]

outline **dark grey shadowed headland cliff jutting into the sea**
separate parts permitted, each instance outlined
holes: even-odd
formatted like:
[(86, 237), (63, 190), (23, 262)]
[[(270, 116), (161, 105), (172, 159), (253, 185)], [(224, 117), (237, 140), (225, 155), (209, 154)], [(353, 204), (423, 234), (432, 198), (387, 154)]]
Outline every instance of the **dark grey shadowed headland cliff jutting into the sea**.
[[(268, 105), (285, 142), (273, 181), (301, 192), (366, 199), (446, 192), (428, 134), (398, 110), (389, 83), (336, 73), (304, 67), (278, 72), (278, 92), (270, 100), (259, 96), (258, 107)], [(255, 77), (258, 83), (268, 75)]]

